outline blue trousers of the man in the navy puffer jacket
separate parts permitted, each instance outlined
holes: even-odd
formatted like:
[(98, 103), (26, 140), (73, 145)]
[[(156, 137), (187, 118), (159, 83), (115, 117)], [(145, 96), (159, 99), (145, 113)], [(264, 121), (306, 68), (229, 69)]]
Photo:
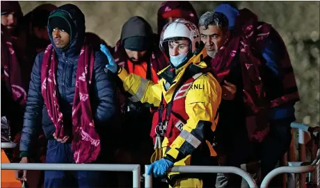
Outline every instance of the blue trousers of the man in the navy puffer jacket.
[[(74, 163), (70, 143), (50, 139), (47, 145), (47, 163)], [(45, 187), (102, 187), (102, 171), (45, 171)]]

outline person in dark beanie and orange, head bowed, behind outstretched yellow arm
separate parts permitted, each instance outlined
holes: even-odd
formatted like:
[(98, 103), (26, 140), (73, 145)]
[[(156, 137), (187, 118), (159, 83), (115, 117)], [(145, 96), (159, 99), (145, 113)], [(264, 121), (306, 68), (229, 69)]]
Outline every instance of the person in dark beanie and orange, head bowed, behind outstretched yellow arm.
[[(153, 35), (152, 28), (145, 19), (138, 16), (131, 17), (122, 26), (121, 38), (115, 44), (113, 58), (129, 73), (157, 83), (159, 79), (157, 72), (168, 65), (168, 59), (160, 51)], [(118, 163), (138, 163), (143, 166), (150, 162), (150, 155), (153, 152), (149, 134), (152, 115), (156, 109), (150, 104), (130, 101), (132, 97), (122, 88), (121, 80), (118, 80), (118, 83), (123, 137), (118, 142), (115, 160)], [(135, 135), (134, 143), (132, 143), (132, 135)], [(120, 174), (125, 175), (125, 173)], [(131, 175), (127, 174), (127, 178), (131, 179)], [(123, 181), (123, 178), (120, 178), (119, 183), (131, 183), (129, 180)]]

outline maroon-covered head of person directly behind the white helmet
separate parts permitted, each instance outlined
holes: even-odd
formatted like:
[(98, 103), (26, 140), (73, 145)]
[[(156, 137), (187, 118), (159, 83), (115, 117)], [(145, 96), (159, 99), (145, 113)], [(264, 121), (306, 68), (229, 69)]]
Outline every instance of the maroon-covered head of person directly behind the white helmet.
[(189, 1), (165, 1), (161, 3), (158, 10), (158, 35), (161, 35), (163, 26), (183, 18), (189, 22), (198, 25), (198, 15)]

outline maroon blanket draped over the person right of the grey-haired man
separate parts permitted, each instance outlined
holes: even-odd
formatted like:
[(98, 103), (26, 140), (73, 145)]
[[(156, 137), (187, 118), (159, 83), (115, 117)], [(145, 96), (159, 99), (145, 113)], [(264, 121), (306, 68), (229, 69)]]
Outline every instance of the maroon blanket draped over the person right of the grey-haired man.
[(243, 77), (243, 102), (246, 106), (246, 127), (250, 140), (262, 142), (269, 133), (268, 108), (264, 84), (259, 69), (262, 66), (259, 58), (255, 58), (253, 50), (261, 46), (269, 36), (269, 24), (257, 25), (257, 16), (244, 8), (239, 11), (234, 33), (211, 60), (211, 66), (221, 81), (233, 67), (232, 60), (239, 51), (239, 63)]

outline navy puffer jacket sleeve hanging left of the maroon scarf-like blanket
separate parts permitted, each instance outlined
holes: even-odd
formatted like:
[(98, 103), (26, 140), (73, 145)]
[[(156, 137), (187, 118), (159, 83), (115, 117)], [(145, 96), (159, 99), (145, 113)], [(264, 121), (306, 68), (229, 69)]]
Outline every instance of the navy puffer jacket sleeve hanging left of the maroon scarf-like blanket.
[(20, 141), (20, 151), (22, 151), (21, 157), (29, 157), (31, 155), (31, 142), (35, 137), (37, 137), (38, 130), (41, 128), (43, 99), (41, 94), (40, 71), (42, 55), (43, 53), (40, 53), (35, 58), (35, 63), (31, 73), (28, 100), (26, 102), (26, 110), (24, 112), (24, 124)]

